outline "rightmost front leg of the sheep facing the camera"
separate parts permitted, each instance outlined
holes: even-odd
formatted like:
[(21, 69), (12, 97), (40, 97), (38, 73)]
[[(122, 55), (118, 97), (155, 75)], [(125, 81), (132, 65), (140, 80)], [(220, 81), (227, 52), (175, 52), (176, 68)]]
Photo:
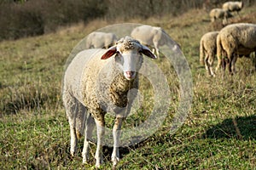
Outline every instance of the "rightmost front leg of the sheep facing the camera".
[(116, 117), (113, 126), (113, 153), (111, 160), (113, 161), (113, 167), (115, 167), (119, 161), (119, 138), (121, 134), (123, 118)]

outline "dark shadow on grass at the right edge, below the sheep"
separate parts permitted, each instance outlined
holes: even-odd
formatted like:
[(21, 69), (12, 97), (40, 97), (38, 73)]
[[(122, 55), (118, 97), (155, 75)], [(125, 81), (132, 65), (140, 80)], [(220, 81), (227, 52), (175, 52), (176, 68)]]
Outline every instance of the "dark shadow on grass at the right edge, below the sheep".
[(209, 128), (205, 136), (210, 139), (256, 139), (256, 115), (225, 119)]

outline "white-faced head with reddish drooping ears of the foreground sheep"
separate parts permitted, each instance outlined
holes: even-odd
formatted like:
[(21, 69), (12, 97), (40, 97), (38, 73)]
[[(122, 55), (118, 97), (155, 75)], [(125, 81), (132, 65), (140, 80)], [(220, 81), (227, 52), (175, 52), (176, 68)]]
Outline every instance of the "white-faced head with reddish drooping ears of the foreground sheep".
[(115, 62), (124, 72), (125, 78), (132, 80), (141, 68), (143, 54), (149, 58), (156, 59), (156, 56), (149, 48), (131, 37), (124, 37), (116, 42), (115, 46), (108, 48), (108, 51), (102, 55), (102, 59), (108, 59), (114, 55)]

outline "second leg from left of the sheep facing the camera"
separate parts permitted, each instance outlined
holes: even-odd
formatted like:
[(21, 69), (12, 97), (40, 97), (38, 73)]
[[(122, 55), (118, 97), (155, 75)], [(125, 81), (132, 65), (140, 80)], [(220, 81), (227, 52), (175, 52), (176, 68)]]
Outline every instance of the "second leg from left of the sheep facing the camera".
[(85, 131), (84, 131), (84, 148), (82, 152), (83, 163), (89, 161), (89, 151), (90, 151), (90, 139), (92, 137), (92, 131), (95, 127), (95, 121), (92, 116), (88, 113), (86, 122), (85, 122)]

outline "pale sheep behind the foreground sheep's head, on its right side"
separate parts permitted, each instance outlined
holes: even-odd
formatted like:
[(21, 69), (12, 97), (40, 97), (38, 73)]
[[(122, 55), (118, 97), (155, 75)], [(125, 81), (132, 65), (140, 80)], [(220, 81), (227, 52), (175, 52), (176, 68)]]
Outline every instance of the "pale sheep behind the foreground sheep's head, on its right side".
[(163, 29), (155, 26), (138, 26), (131, 31), (131, 37), (145, 45), (154, 46), (158, 57), (160, 56), (159, 47), (167, 42), (164, 34), (166, 34), (166, 32)]

